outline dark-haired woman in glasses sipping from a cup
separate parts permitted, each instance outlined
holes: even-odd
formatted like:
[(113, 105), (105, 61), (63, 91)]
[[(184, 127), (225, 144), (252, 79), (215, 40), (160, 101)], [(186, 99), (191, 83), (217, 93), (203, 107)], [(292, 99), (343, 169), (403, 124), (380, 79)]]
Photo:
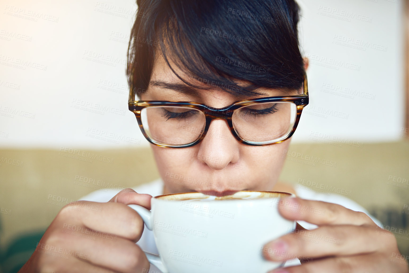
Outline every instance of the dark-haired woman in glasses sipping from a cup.
[[(143, 232), (142, 219), (127, 204), (150, 209), (152, 195), (240, 190), (298, 196), (279, 210), (302, 226), (263, 251), (266, 259), (289, 261), (276, 273), (408, 272), (392, 233), (359, 205), (277, 182), (308, 104), (308, 61), (299, 50), (294, 0), (137, 4), (128, 52), (129, 108), (152, 143), (161, 179), (136, 192), (94, 192), (67, 205), (20, 272), (148, 272), (142, 250), (156, 252), (152, 233)], [(154, 102), (133, 102), (135, 95)], [(333, 240), (316, 244), (310, 237)]]

